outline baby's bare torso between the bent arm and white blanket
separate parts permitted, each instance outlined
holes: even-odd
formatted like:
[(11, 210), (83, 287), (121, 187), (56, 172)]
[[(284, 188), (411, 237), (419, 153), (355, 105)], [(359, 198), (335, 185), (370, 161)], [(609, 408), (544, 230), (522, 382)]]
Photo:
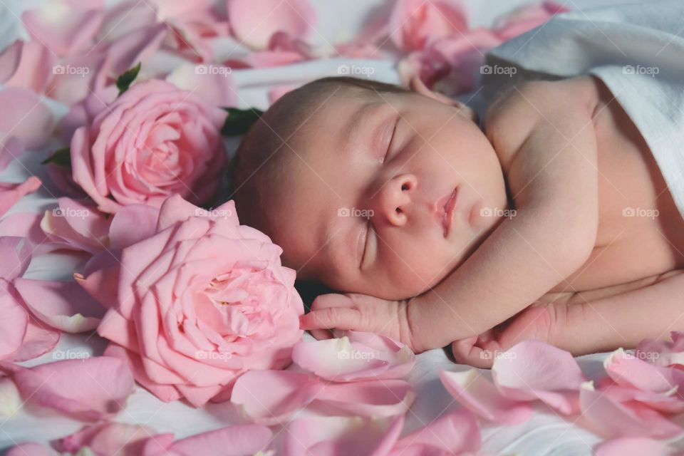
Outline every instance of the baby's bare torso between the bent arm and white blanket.
[[(636, 126), (598, 78), (554, 84), (570, 93), (589, 93), (595, 103), (586, 128), (596, 133), (598, 232), (584, 265), (539, 301), (593, 301), (675, 274), (684, 267), (684, 220)], [(534, 90), (529, 93), (514, 99), (534, 104)], [(505, 122), (503, 117), (499, 122)]]

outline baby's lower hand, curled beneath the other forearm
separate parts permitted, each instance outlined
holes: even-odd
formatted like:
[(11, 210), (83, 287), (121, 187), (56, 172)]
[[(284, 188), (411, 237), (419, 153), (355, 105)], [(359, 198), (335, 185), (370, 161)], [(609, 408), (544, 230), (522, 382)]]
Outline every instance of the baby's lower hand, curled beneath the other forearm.
[[(535, 302), (500, 325), (451, 344), (457, 363), (491, 368), (494, 359), (526, 339), (556, 345), (564, 327), (566, 304)], [(563, 347), (561, 347), (563, 348)]]

